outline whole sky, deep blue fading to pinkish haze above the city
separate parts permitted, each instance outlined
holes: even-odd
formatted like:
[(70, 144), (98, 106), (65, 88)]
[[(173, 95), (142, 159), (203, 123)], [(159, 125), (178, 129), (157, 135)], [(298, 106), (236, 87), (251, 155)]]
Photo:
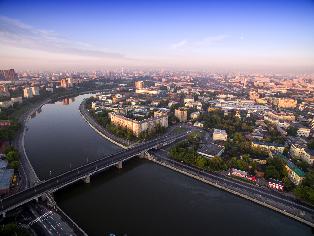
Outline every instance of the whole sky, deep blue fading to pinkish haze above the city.
[(314, 1), (0, 0), (0, 64), (314, 73)]

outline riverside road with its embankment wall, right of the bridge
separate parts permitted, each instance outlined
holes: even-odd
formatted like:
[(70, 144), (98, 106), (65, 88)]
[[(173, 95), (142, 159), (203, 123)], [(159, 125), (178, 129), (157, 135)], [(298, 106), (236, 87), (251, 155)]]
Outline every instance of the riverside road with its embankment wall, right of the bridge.
[[(216, 188), (222, 189), (222, 190), (224, 190), (226, 192), (229, 192), (231, 194), (237, 195), (237, 196), (239, 196), (239, 197), (241, 197), (243, 199), (247, 199), (247, 200), (249, 200), (251, 202), (254, 202), (256, 204), (262, 205), (262, 206), (264, 206), (264, 207), (266, 207), (266, 208), (268, 208), (270, 210), (276, 211), (276, 212), (278, 212), (278, 213), (280, 213), (280, 214), (282, 214), (284, 216), (288, 216), (291, 219), (294, 219), (296, 221), (299, 221), (299, 222), (301, 222), (301, 223), (303, 223), (305, 225), (308, 225), (308, 226), (314, 228), (314, 220), (313, 220), (313, 215), (312, 214), (308, 214), (305, 211), (300, 212), (303, 215), (303, 216), (301, 215), (303, 217), (303, 218), (301, 218), (300, 216), (297, 215), (298, 212), (299, 212), (298, 209), (295, 209), (295, 208), (290, 207), (290, 206), (282, 207), (282, 208), (286, 208), (286, 209), (280, 209), (279, 205), (276, 202), (274, 202), (273, 200), (268, 199), (266, 197), (262, 197), (262, 196), (251, 197), (248, 194), (242, 194), (242, 193), (240, 193), (239, 189), (238, 189), (239, 191), (236, 191), (237, 189), (232, 189), (232, 187), (227, 188), (226, 187), (227, 186), (226, 183), (223, 183), (225, 186), (220, 185), (218, 183), (215, 183), (215, 182), (212, 182), (210, 180), (207, 180), (207, 179), (203, 178), (201, 175), (197, 175), (197, 173), (192, 174), (192, 173), (189, 173), (187, 171), (183, 171), (183, 170), (177, 169), (174, 166), (172, 166), (171, 164), (165, 163), (163, 161), (156, 160), (150, 154), (148, 154), (147, 156), (148, 156), (147, 157), (148, 160), (151, 160), (151, 161), (153, 161), (153, 162), (155, 162), (157, 164), (160, 164), (160, 165), (165, 166), (165, 167), (167, 167), (167, 168), (169, 168), (171, 170), (177, 171), (177, 172), (179, 172), (181, 174), (187, 175), (189, 177), (192, 177), (194, 179), (197, 179), (199, 181), (207, 183), (207, 184), (209, 184), (211, 186), (214, 186)], [(263, 201), (258, 200), (258, 198), (263, 199)], [(273, 203), (273, 204), (270, 205), (270, 203)], [(276, 207), (275, 205), (278, 205), (278, 207)], [(290, 211), (290, 212), (288, 212), (288, 211)], [(300, 215), (300, 213), (299, 213), (299, 215)]]

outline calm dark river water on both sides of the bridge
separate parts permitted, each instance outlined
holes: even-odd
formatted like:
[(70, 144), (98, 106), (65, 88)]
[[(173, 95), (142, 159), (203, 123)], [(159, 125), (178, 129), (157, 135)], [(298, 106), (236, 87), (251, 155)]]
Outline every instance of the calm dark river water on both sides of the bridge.
[[(46, 104), (28, 121), (25, 149), (41, 180), (116, 152), (78, 112), (90, 96)], [(54, 195), (89, 236), (312, 235), (290, 218), (137, 158)]]

